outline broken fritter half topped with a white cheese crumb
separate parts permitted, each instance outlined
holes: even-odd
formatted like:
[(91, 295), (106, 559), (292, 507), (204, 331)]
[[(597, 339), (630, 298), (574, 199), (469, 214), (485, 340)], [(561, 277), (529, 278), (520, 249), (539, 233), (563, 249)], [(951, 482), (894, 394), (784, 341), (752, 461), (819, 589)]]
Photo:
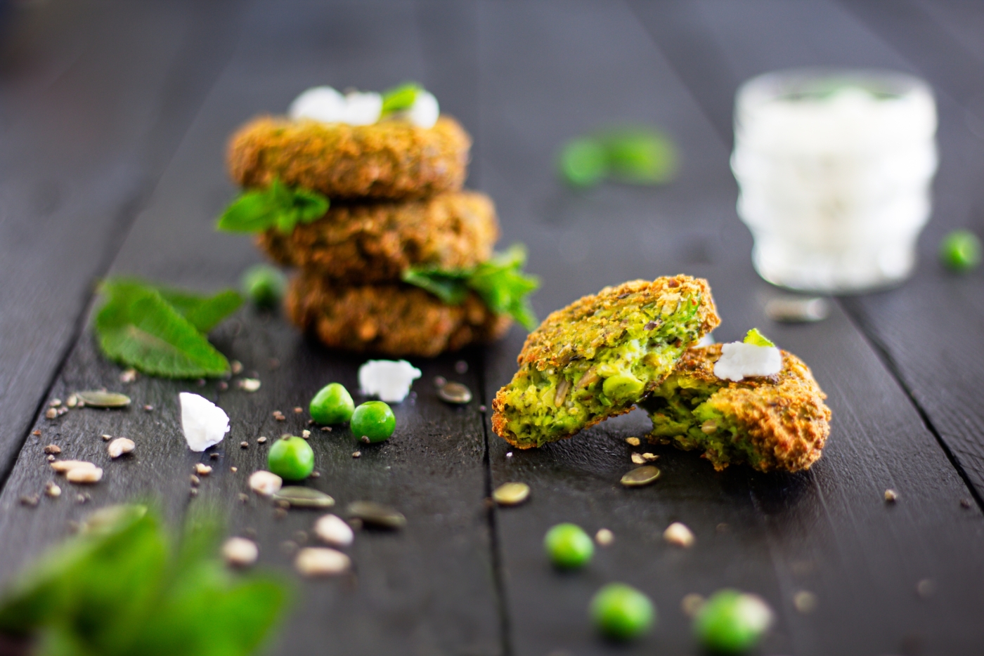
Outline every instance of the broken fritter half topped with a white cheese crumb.
[(810, 368), (782, 351), (774, 376), (738, 383), (714, 376), (721, 345), (695, 347), (641, 405), (650, 442), (701, 448), (714, 469), (747, 462), (759, 471), (800, 471), (821, 456), (830, 435), (827, 394)]

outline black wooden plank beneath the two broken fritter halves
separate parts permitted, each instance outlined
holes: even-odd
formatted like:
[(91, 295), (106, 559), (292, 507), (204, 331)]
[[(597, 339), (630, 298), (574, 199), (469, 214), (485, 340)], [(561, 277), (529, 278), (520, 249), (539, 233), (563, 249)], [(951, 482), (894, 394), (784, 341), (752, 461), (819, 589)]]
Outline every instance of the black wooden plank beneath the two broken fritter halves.
[[(705, 39), (691, 41), (677, 53), (680, 60), (709, 47), (726, 52), (708, 31), (703, 6), (689, 26), (674, 23), (666, 7), (634, 6), (657, 45), (662, 33), (700, 34), (703, 25)], [(759, 6), (759, 18), (784, 34), (785, 20), (772, 16), (778, 7)], [(966, 486), (839, 308), (811, 327), (765, 318), (763, 307), (775, 292), (751, 268), (751, 239), (733, 209), (728, 145), (715, 134), (729, 134), (730, 126), (715, 131), (703, 118), (725, 109), (702, 111), (677, 76), (693, 88), (700, 83), (676, 58), (669, 57), (669, 68), (624, 6), (488, 3), (481, 9), (483, 185), (500, 205), (507, 239), (526, 242), (531, 267), (543, 277), (535, 299), (541, 316), (632, 277), (706, 275), (724, 320), (718, 338), (734, 339), (754, 326), (774, 335), (813, 366), (834, 413), (825, 457), (807, 474), (741, 468), (715, 474), (695, 454), (653, 449), (664, 477), (635, 491), (617, 485), (632, 466), (622, 439), (639, 436), (645, 417), (629, 415), (537, 451), (511, 449), (490, 435), (494, 483), (523, 480), (533, 490), (525, 506), (496, 512), (514, 652), (696, 653), (681, 598), (725, 585), (759, 592), (777, 610), (766, 653), (898, 653), (914, 646), (958, 653), (979, 642), (973, 609), (984, 599), (969, 581), (981, 572), (980, 512), (960, 506), (969, 497)], [(749, 5), (734, 9), (747, 11)], [(823, 37), (823, 30), (815, 35)], [(710, 65), (701, 60), (695, 70)], [(552, 169), (560, 143), (619, 119), (666, 127), (683, 153), (680, 178), (663, 189), (565, 190)], [(489, 393), (515, 371), (521, 344), (522, 335), (514, 334), (490, 349)], [(887, 507), (883, 494), (890, 487), (908, 501)], [(659, 535), (673, 520), (697, 534), (691, 551), (662, 543)], [(560, 521), (589, 531), (607, 527), (615, 544), (584, 572), (555, 572), (541, 541)], [(720, 522), (730, 530), (718, 533)], [(923, 578), (937, 585), (930, 600), (915, 591)], [(662, 618), (651, 637), (625, 649), (595, 639), (585, 617), (590, 594), (610, 580), (645, 590)], [(801, 590), (817, 595), (813, 614), (794, 609)]]

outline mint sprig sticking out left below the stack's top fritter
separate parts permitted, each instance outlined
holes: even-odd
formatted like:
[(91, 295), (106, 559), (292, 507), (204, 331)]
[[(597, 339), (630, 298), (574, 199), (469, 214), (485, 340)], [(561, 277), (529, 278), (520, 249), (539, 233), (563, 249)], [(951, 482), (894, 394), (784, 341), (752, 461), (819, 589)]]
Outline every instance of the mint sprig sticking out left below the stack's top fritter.
[(329, 200), (307, 189), (290, 189), (278, 178), (266, 189), (247, 189), (222, 212), (217, 227), (224, 232), (263, 232), (277, 228), (287, 234), (298, 223), (310, 223), (328, 211)]

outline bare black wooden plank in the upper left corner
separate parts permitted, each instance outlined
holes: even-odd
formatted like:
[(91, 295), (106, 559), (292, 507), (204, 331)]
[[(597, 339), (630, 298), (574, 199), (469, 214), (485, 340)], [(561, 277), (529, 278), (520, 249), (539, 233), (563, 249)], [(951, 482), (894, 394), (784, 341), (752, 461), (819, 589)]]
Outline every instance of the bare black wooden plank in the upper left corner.
[(0, 71), (0, 471), (230, 48), (234, 2), (21, 10)]

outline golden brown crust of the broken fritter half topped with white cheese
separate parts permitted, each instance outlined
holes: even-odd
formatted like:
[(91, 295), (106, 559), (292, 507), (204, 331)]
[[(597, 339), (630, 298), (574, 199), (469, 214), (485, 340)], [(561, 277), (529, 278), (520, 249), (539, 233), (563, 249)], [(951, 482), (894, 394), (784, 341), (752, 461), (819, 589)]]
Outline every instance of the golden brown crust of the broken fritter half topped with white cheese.
[[(827, 394), (810, 368), (792, 353), (782, 351), (782, 371), (778, 374), (733, 383), (714, 376), (714, 363), (720, 356), (720, 344), (688, 349), (676, 373), (721, 386), (706, 402), (747, 432), (762, 456), (754, 465), (756, 469), (809, 469), (820, 458), (830, 435), (830, 408), (824, 402)], [(713, 462), (712, 457), (708, 459)], [(714, 462), (717, 470), (726, 466)]]

